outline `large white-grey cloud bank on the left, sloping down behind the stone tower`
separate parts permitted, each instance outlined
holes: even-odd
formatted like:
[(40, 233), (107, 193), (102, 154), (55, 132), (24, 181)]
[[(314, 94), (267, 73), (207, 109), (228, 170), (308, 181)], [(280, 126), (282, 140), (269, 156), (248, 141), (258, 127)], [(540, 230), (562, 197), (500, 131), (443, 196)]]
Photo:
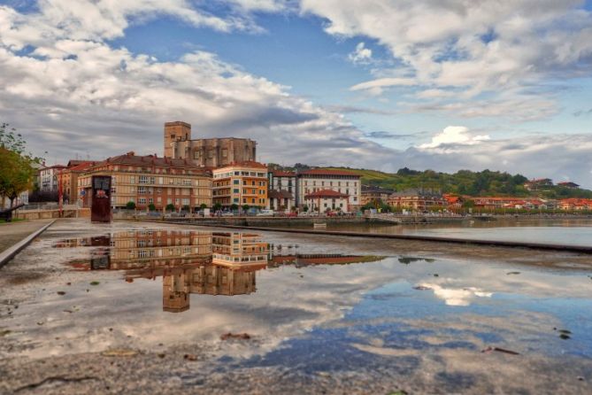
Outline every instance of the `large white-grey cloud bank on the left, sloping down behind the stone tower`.
[[(195, 136), (265, 142), (258, 151), (266, 161), (318, 163), (322, 152), (334, 164), (351, 165), (392, 153), (365, 140), (340, 113), (290, 95), (288, 87), (210, 52), (163, 62), (111, 48), (107, 39), (123, 34), (128, 19), (146, 12), (140, 5), (162, 10), (159, 2), (106, 4), (89, 3), (88, 14), (77, 5), (68, 10), (61, 1), (44, 2), (30, 14), (0, 8), (0, 118), (22, 131), (38, 152), (50, 151), (50, 161), (87, 151), (99, 159), (130, 149), (161, 152), (166, 120), (193, 123)], [(162, 7), (181, 19), (202, 15), (186, 9), (185, 2)], [(223, 22), (235, 27), (235, 19)], [(33, 51), (19, 53), (27, 45)]]

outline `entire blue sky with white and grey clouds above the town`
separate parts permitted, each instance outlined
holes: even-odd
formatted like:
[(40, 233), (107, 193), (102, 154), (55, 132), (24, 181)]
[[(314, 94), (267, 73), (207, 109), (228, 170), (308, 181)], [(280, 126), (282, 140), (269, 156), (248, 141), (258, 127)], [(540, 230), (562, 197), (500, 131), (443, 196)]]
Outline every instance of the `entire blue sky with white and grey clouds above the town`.
[(592, 188), (592, 1), (0, 0), (0, 122), (35, 154), (161, 155), (171, 120), (264, 163)]

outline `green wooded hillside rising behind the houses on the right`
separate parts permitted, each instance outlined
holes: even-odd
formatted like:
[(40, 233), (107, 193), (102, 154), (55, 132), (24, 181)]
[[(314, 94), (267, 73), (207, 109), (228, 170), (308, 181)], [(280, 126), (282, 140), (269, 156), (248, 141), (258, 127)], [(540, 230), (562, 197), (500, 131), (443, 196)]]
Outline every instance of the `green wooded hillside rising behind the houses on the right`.
[[(277, 165), (270, 165), (278, 167)], [(283, 167), (285, 170), (296, 168), (310, 168), (306, 165), (296, 164), (294, 167)], [(529, 191), (524, 187), (527, 177), (521, 174), (508, 174), (483, 170), (473, 172), (460, 170), (454, 174), (435, 172), (434, 170), (418, 171), (407, 167), (399, 169), (396, 174), (384, 173), (377, 170), (356, 169), (350, 167), (323, 167), (349, 170), (362, 176), (365, 185), (380, 186), (389, 190), (406, 190), (410, 188), (424, 188), (441, 190), (442, 193), (456, 193), (468, 196), (511, 196), (511, 197), (545, 197), (566, 198), (586, 197), (592, 198), (591, 190), (568, 189), (559, 186), (548, 187), (546, 190)]]

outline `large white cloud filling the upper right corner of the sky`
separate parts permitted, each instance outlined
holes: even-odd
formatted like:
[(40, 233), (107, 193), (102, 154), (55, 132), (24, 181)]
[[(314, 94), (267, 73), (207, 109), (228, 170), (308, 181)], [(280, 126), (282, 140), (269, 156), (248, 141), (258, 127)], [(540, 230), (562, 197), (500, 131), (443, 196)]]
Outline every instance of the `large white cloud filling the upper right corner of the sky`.
[[(303, 12), (327, 19), (328, 34), (372, 38), (399, 65), (377, 69), (378, 78), (352, 90), (380, 95), (384, 89), (416, 85), (417, 99), (446, 98), (446, 111), (465, 117), (487, 116), (481, 107), (472, 110), (475, 97), (488, 94), (485, 102), (496, 102), (508, 91), (513, 93), (504, 99), (527, 98), (534, 101), (532, 107), (544, 108), (551, 102), (557, 111), (554, 97), (534, 90), (548, 79), (592, 76), (592, 15), (580, 6), (579, 0), (301, 1)], [(384, 78), (389, 73), (404, 73), (414, 82)], [(457, 95), (442, 90), (450, 88)], [(534, 117), (552, 113), (534, 111)]]

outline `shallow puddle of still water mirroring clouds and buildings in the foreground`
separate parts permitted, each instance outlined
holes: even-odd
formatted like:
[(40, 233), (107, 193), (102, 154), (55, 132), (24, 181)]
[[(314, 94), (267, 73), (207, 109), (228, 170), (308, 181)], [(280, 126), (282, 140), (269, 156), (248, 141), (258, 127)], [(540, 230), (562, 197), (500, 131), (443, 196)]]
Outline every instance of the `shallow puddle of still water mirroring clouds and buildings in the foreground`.
[[(475, 229), (422, 231), (467, 230)], [(592, 389), (592, 268), (358, 243), (170, 228), (49, 231), (16, 263), (43, 256), (66, 275), (42, 289), (28, 284), (29, 298), (0, 315), (12, 345), (0, 358), (155, 350), (232, 332), (251, 341), (222, 347), (222, 370), (364, 370), (439, 391), (477, 383), (520, 391), (543, 378)]]

